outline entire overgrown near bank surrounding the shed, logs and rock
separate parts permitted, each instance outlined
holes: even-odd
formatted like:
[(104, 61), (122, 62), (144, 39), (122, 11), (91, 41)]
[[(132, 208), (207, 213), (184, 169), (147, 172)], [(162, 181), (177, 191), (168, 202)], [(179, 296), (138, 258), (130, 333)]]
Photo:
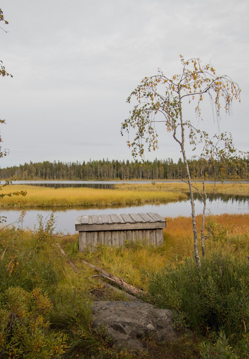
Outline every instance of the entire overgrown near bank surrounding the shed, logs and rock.
[[(15, 340), (13, 344), (15, 342), (17, 344), (11, 348), (19, 350), (20, 342), (23, 340), (21, 335), (26, 333), (26, 341), (31, 344), (20, 350), (29, 351), (30, 358), (45, 358), (42, 348), (48, 348), (51, 342), (53, 344), (51, 350), (55, 346), (58, 348), (58, 358), (61, 356), (64, 358), (121, 359), (125, 356), (127, 359), (183, 359), (186, 355), (192, 359), (225, 358), (226, 356), (221, 355), (225, 350), (228, 351), (230, 346), (233, 346), (234, 352), (231, 353), (232, 356), (227, 356), (228, 358), (246, 358), (239, 348), (242, 348), (242, 353), (246, 355), (248, 341), (246, 328), (249, 326), (246, 300), (249, 301), (249, 298), (248, 273), (246, 272), (248, 260), (245, 255), (249, 253), (249, 215), (207, 217), (211, 236), (206, 241), (207, 259), (203, 262), (203, 281), (202, 277), (198, 278), (192, 259), (191, 219), (178, 217), (167, 218), (167, 220), (164, 245), (161, 247), (154, 248), (130, 243), (124, 249), (102, 247), (94, 254), (78, 253), (76, 235), (54, 235), (53, 219), (48, 220), (45, 225), (38, 224), (37, 229), (32, 232), (22, 232), (20, 229), (2, 230), (0, 232), (0, 345), (2, 345), (0, 350), (3, 350), (2, 343), (9, 340), (8, 330), (5, 331), (4, 328), (8, 325), (9, 313), (14, 312), (19, 321), (16, 324), (17, 327), (12, 327), (13, 340)], [(201, 218), (198, 217), (199, 227), (200, 222)], [(67, 264), (55, 245), (57, 241), (66, 251), (68, 258), (77, 265), (80, 275)], [(170, 345), (158, 344), (152, 338), (147, 342), (148, 350), (144, 353), (118, 353), (104, 332), (95, 331), (92, 328), (89, 305), (91, 300), (124, 300), (124, 297), (111, 292), (92, 279), (94, 271), (83, 265), (81, 259), (123, 277), (128, 283), (138, 288), (149, 290), (146, 300), (153, 302), (156, 306), (178, 309), (181, 313), (181, 321), (178, 321), (178, 325), (181, 327), (186, 324), (194, 328), (195, 338), (183, 337)], [(220, 273), (221, 279), (217, 277)], [(240, 281), (240, 278), (244, 278), (243, 281)], [(200, 285), (191, 289), (191, 283)], [(230, 297), (226, 295), (226, 291), (232, 287), (234, 300), (233, 295)], [(188, 290), (185, 290), (186, 288)], [(202, 292), (199, 292), (200, 288)], [(222, 302), (221, 307), (222, 298), (219, 297), (221, 289), (224, 290), (221, 297), (230, 298), (230, 321), (226, 321), (226, 314), (224, 314), (226, 303)], [(198, 302), (198, 298), (201, 298), (201, 303)], [(199, 314), (194, 317), (195, 323), (187, 307), (184, 306), (184, 299), (186, 303), (196, 303), (198, 307)], [(241, 302), (242, 299), (243, 302)], [(225, 324), (219, 327), (211, 320), (206, 322), (210, 313), (214, 312), (216, 317), (216, 307), (223, 315), (221, 319), (224, 323), (228, 322), (229, 327)], [(191, 308), (195, 309), (195, 307)], [(192, 312), (196, 313), (194, 310)], [(239, 320), (236, 321), (237, 317)], [(21, 331), (20, 328), (22, 328)], [(220, 330), (223, 331), (222, 337), (219, 334)], [(30, 348), (34, 347), (33, 340), (38, 337), (39, 333), (42, 335), (40, 343), (43, 346), (40, 347), (40, 354), (34, 356), (34, 353), (30, 354)], [(231, 333), (234, 335), (232, 336)], [(224, 335), (226, 335), (225, 339)], [(212, 348), (215, 348), (212, 343), (217, 347), (216, 354), (212, 352)], [(211, 347), (208, 347), (209, 344)], [(11, 348), (9, 347), (8, 350), (11, 351)], [(200, 350), (202, 350), (202, 355)], [(63, 351), (65, 353), (62, 353)], [(205, 356), (205, 353), (209, 353), (207, 354), (209, 356)], [(235, 356), (236, 353), (239, 353), (239, 356)], [(5, 356), (2, 357), (5, 358)]]

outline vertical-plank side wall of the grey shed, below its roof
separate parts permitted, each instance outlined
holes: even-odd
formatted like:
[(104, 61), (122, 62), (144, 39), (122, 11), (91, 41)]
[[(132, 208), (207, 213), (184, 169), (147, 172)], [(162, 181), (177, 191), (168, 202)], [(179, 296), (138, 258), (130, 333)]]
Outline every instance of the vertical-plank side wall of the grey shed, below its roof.
[(163, 229), (79, 232), (79, 251), (85, 252), (88, 248), (94, 252), (98, 245), (124, 247), (126, 241), (160, 246), (163, 244)]

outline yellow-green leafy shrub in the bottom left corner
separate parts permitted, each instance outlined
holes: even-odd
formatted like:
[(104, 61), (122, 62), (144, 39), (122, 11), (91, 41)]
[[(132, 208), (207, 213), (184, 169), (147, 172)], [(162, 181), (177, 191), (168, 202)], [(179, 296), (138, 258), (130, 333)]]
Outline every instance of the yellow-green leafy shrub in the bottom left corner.
[(49, 330), (52, 302), (40, 288), (8, 288), (0, 306), (1, 358), (49, 359), (65, 353), (66, 335)]

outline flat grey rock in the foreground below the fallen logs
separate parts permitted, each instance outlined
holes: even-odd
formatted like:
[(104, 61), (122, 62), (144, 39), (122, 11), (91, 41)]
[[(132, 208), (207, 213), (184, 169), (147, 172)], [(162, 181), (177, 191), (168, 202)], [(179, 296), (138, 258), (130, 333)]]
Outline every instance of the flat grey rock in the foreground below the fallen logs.
[(172, 342), (179, 337), (173, 328), (169, 309), (157, 309), (140, 302), (94, 302), (91, 306), (94, 327), (105, 325), (114, 345), (121, 349), (143, 349), (143, 338), (153, 335), (158, 341)]

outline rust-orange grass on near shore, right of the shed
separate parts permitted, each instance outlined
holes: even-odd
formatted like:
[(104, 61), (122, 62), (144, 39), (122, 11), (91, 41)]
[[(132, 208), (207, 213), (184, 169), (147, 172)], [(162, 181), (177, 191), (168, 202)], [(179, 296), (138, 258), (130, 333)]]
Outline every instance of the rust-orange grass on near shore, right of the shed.
[[(182, 261), (193, 253), (193, 228), (191, 217), (166, 218), (167, 228), (164, 229), (164, 248), (169, 261)], [(197, 230), (200, 234), (202, 218), (196, 217)], [(211, 235), (206, 240), (207, 250), (218, 247), (233, 252), (237, 243), (237, 255), (244, 257), (245, 243), (249, 239), (249, 214), (222, 214), (206, 216), (207, 225), (211, 228)], [(200, 244), (200, 243), (199, 243)], [(201, 248), (200, 253), (201, 253)], [(248, 241), (249, 251), (249, 241)], [(248, 253), (249, 254), (249, 253)]]

